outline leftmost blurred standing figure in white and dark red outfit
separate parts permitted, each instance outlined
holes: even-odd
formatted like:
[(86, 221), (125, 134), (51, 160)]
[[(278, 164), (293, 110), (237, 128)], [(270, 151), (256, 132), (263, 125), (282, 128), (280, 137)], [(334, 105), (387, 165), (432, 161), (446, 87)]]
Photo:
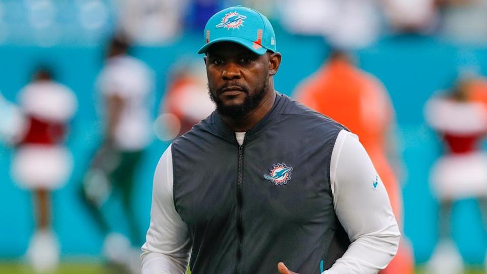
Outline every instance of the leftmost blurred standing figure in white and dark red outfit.
[(71, 175), (73, 160), (64, 147), (64, 138), (77, 99), (73, 91), (53, 80), (48, 68), (42, 67), (19, 92), (19, 108), (25, 126), (16, 134), (19, 139), (12, 176), (21, 188), (33, 191), (36, 230), (27, 259), (36, 272), (48, 272), (59, 260), (59, 244), (51, 227), (50, 193), (62, 187)]

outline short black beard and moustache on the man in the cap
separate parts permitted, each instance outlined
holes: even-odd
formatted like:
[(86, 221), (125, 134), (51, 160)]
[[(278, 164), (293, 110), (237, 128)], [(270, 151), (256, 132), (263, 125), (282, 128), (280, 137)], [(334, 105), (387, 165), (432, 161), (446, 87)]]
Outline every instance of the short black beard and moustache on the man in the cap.
[[(269, 78), (266, 76), (263, 84), (257, 88), (257, 92), (254, 95), (249, 95), (249, 89), (245, 86), (241, 86), (237, 83), (228, 83), (227, 85), (222, 86), (217, 90), (213, 90), (208, 83), (208, 94), (210, 94), (210, 98), (217, 106), (217, 112), (222, 116), (227, 116), (231, 118), (245, 118), (249, 115), (250, 112), (255, 110), (259, 105), (262, 99), (264, 99), (265, 94), (267, 93), (267, 88), (269, 85)], [(238, 105), (225, 105), (220, 97), (215, 96), (214, 94), (222, 94), (222, 90), (229, 86), (237, 86), (245, 92), (246, 96), (243, 99), (242, 104)]]

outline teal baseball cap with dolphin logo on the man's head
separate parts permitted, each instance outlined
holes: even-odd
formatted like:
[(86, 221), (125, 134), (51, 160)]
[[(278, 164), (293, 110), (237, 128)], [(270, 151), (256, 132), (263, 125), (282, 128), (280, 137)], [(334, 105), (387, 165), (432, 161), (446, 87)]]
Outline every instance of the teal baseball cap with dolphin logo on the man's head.
[(204, 41), (198, 53), (219, 42), (234, 42), (262, 55), (276, 52), (275, 34), (269, 19), (260, 12), (241, 6), (230, 7), (213, 15), (204, 27)]

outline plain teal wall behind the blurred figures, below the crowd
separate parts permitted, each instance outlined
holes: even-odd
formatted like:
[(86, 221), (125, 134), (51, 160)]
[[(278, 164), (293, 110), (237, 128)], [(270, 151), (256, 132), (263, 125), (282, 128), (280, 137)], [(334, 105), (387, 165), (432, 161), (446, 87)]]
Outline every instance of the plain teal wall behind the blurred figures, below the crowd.
[[(283, 54), (281, 69), (275, 77), (276, 89), (291, 95), (305, 77), (317, 70), (329, 47), (321, 38), (291, 36), (276, 29), (277, 50)], [(186, 33), (164, 47), (137, 47), (133, 54), (146, 61), (156, 72), (156, 106), (165, 91), (168, 70), (183, 56), (197, 56), (201, 34)], [(77, 190), (92, 151), (98, 145), (101, 123), (94, 80), (102, 65), (103, 48), (55, 46), (0, 47), (0, 90), (7, 99), (16, 94), (30, 78), (32, 66), (39, 60), (55, 64), (59, 82), (77, 94), (79, 110), (72, 122), (67, 146), (75, 155), (75, 170), (65, 187), (53, 192), (53, 227), (59, 236), (62, 256), (98, 256), (102, 235), (78, 200)], [(437, 201), (428, 185), (429, 168), (441, 152), (435, 133), (428, 129), (423, 107), (433, 92), (448, 88), (459, 67), (476, 66), (487, 75), (487, 49), (456, 46), (439, 38), (421, 36), (384, 37), (355, 53), (358, 65), (374, 74), (388, 89), (397, 113), (397, 136), (405, 170), (402, 174), (405, 204), (405, 234), (411, 239), (417, 262), (425, 262), (437, 241)], [(167, 143), (154, 140), (138, 170), (133, 206), (144, 231), (149, 226), (152, 176), (158, 158)], [(0, 145), (0, 259), (23, 255), (33, 232), (31, 194), (16, 187), (9, 176), (12, 148)], [(115, 200), (107, 204), (111, 223), (124, 232), (126, 225)], [(453, 234), (465, 261), (481, 264), (487, 247), (475, 200), (455, 204)], [(143, 239), (141, 239), (143, 243)]]

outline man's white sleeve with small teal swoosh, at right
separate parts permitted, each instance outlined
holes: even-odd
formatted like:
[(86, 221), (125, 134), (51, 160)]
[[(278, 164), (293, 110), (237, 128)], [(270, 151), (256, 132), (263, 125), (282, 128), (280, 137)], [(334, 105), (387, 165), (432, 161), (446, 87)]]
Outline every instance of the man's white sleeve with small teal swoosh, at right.
[(338, 133), (330, 180), (335, 212), (351, 244), (323, 273), (377, 273), (396, 254), (400, 232), (386, 188), (357, 135)]

